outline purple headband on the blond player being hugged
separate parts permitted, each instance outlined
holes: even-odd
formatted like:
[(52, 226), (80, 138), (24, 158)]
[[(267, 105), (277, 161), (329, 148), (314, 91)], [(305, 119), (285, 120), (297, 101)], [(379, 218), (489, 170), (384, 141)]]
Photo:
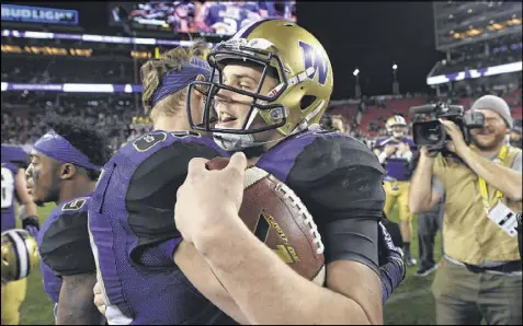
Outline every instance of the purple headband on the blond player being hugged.
[(207, 61), (193, 57), (191, 62), (183, 63), (180, 71), (170, 71), (161, 80), (160, 86), (152, 94), (150, 106), (155, 106), (158, 102), (186, 88), (191, 82), (196, 80), (198, 74), (203, 74), (206, 80), (211, 78), (211, 66)]

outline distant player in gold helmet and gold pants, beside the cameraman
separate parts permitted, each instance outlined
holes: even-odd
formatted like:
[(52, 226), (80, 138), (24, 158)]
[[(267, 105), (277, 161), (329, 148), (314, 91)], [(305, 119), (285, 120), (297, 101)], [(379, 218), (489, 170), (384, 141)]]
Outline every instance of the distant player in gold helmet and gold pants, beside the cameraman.
[(394, 205), (398, 203), (401, 237), (403, 238), (405, 263), (407, 266), (416, 266), (416, 259), (410, 253), (412, 240), (412, 214), (409, 209), (410, 168), (412, 160), (411, 148), (413, 141), (407, 137), (407, 121), (402, 116), (395, 115), (386, 123), (386, 138), (376, 140), (374, 153), (379, 163), (384, 164), (386, 201), (384, 212), (390, 217)]

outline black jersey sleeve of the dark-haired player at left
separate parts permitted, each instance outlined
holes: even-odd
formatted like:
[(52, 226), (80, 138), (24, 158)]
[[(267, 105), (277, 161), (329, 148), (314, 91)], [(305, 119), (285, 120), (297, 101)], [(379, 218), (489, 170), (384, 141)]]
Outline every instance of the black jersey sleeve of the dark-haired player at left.
[(94, 272), (96, 266), (88, 232), (88, 212), (61, 214), (45, 231), (42, 260), (58, 276)]

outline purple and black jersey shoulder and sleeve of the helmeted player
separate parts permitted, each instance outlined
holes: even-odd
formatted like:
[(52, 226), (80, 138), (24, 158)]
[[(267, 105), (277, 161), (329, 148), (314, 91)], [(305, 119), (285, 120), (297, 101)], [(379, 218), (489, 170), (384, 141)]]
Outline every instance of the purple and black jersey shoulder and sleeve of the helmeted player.
[[(310, 130), (276, 144), (257, 166), (284, 182), (305, 203), (321, 234), (326, 264), (356, 260), (379, 273), (378, 251), (362, 238), (377, 236), (384, 170), (365, 144), (340, 132)], [(364, 230), (357, 226), (363, 224)]]

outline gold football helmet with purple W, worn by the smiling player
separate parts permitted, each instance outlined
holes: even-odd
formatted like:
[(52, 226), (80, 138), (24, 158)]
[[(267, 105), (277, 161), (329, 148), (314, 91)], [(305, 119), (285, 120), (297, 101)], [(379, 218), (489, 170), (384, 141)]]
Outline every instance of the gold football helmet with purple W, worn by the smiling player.
[[(194, 120), (187, 98), (189, 123), (195, 130), (213, 132), (215, 139), (234, 138), (235, 144), (226, 150), (263, 145), (318, 124), (332, 92), (332, 69), (321, 44), (283, 20), (242, 27), (231, 39), (218, 44), (207, 61), (213, 68), (211, 82), (190, 84), (190, 90), (205, 90), (203, 118)], [(240, 79), (235, 75), (247, 75), (255, 85), (240, 86), (232, 82)], [(217, 113), (234, 113), (237, 116), (227, 119), (238, 121), (213, 127), (212, 117)]]

